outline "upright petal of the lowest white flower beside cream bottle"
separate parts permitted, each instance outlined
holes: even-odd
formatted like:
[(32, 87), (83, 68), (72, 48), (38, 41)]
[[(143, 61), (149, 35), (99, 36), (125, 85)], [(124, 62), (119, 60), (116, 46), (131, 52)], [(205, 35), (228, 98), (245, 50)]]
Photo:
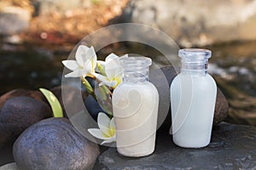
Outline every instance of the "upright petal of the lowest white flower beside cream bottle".
[(97, 122), (98, 122), (98, 126), (100, 127), (100, 129), (102, 130), (102, 133), (104, 133), (106, 136), (108, 136), (109, 138), (111, 137), (109, 134), (109, 125), (110, 125), (110, 119), (109, 117), (103, 113), (100, 112), (97, 118)]

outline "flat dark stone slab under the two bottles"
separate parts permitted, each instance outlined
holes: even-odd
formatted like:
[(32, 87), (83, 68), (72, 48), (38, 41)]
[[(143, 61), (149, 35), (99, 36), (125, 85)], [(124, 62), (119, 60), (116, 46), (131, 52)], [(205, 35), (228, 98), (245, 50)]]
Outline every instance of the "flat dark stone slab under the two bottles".
[(183, 149), (172, 136), (158, 133), (154, 154), (138, 159), (119, 156), (110, 148), (96, 163), (96, 169), (255, 169), (256, 128), (220, 123), (212, 132), (211, 143), (202, 149)]

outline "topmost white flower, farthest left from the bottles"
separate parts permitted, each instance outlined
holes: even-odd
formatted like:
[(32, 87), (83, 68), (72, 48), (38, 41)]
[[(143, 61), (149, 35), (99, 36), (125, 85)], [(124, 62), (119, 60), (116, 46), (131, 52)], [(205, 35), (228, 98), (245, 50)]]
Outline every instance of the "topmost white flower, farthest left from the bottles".
[(93, 47), (79, 45), (75, 54), (76, 60), (63, 60), (62, 64), (72, 72), (65, 77), (91, 77), (96, 68), (96, 53)]

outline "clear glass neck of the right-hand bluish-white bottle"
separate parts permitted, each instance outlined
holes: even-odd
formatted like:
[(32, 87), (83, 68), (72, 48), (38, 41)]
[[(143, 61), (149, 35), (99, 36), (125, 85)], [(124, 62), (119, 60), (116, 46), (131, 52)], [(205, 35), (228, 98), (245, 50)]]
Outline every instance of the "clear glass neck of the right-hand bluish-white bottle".
[(182, 58), (181, 73), (191, 76), (206, 76), (208, 59), (211, 51), (198, 48), (184, 48), (179, 50), (178, 55)]

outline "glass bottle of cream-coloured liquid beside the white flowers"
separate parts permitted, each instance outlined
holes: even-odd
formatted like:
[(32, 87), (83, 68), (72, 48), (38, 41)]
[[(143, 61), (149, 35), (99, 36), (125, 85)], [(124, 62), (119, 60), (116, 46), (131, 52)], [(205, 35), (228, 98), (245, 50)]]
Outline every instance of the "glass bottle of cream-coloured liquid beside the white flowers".
[(159, 94), (148, 82), (151, 59), (122, 60), (124, 78), (113, 91), (116, 144), (123, 156), (148, 156), (154, 152)]

